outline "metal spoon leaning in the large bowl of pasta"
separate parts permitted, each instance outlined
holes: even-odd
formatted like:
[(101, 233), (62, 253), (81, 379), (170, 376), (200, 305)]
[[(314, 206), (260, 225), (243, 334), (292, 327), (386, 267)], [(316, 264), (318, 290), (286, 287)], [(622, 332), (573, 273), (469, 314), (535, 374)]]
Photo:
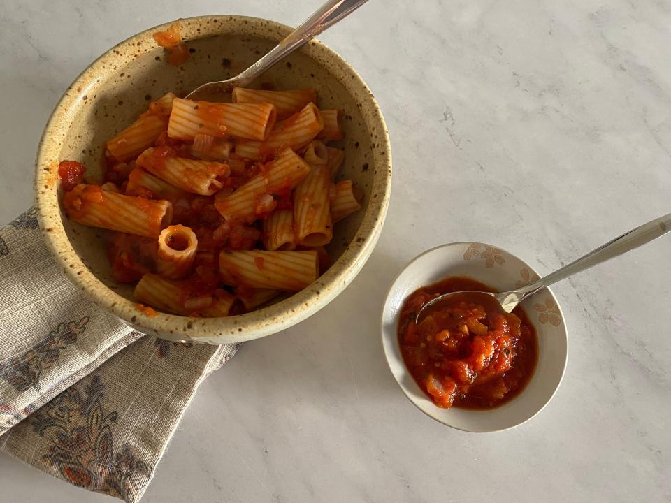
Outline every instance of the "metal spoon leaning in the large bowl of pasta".
[(347, 15), (351, 14), (357, 8), (361, 7), (368, 0), (329, 0), (319, 7), (314, 14), (308, 17), (307, 20), (301, 24), (289, 35), (284, 37), (280, 43), (275, 45), (275, 48), (270, 50), (264, 57), (259, 59), (247, 70), (236, 75), (236, 77), (226, 80), (217, 80), (215, 82), (208, 82), (199, 87), (196, 87), (192, 92), (187, 94), (189, 99), (197, 99), (196, 95), (206, 94), (208, 96), (218, 93), (231, 92), (234, 87), (247, 87), (252, 80), (257, 78), (261, 73), (268, 70), (291, 52), (300, 48), (301, 45), (308, 42), (311, 38), (315, 38), (322, 31), (333, 26), (333, 24), (342, 20)]

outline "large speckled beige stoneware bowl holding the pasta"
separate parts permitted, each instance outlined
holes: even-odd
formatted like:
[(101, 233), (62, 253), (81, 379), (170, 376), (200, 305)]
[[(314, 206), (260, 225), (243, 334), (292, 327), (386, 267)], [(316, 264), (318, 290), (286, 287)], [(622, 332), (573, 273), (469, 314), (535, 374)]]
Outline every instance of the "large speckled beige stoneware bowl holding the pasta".
[(143, 31), (103, 54), (59, 101), (39, 146), (35, 196), (48, 247), (66, 275), (97, 305), (144, 333), (170, 340), (224, 344), (264, 337), (314, 314), (361, 270), (382, 231), (391, 189), (391, 150), (384, 119), (366, 84), (338, 54), (311, 41), (259, 78), (278, 89), (312, 87), (323, 108), (343, 110), (346, 162), (340, 177), (363, 189), (363, 209), (335, 226), (329, 245), (333, 265), (315, 283), (273, 305), (240, 316), (196, 319), (138, 311), (132, 286), (117, 284), (101, 236), (106, 231), (69, 221), (62, 211), (57, 165), (62, 159), (87, 166), (100, 178), (103, 144), (130, 124), (147, 104), (168, 91), (187, 92), (247, 68), (289, 27), (253, 17), (203, 16), (181, 22), (192, 54), (180, 67), (164, 61), (152, 38), (168, 24)]

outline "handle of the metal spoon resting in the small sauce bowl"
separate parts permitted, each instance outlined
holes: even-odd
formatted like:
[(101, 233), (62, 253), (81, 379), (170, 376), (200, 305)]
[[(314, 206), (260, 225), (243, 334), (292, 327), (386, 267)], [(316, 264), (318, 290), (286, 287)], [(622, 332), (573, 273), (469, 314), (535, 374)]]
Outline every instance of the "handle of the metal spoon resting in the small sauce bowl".
[(538, 279), (527, 286), (523, 286), (521, 289), (517, 290), (517, 293), (521, 294), (523, 297), (531, 295), (531, 293), (534, 293), (545, 286), (550, 286), (551, 284), (561, 281), (561, 279), (575, 275), (576, 272), (589, 269), (594, 265), (610, 260), (621, 254), (625, 254), (627, 251), (633, 250), (641, 245), (645, 245), (647, 242), (657, 239), (669, 231), (671, 231), (671, 213), (649, 221), (647, 224), (643, 224), (628, 233), (624, 233), (619, 238), (615, 238), (614, 240), (607, 242), (605, 245), (590, 251), (589, 254), (578, 258), (576, 261), (565, 265), (563, 268), (558, 269), (555, 272), (551, 272), (546, 277)]

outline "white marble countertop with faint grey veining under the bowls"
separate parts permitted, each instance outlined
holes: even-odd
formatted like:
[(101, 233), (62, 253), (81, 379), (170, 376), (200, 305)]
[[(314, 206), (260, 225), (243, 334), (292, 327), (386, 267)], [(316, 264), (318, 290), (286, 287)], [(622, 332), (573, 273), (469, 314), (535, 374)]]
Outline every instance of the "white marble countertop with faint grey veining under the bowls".
[[(6, 2), (2, 221), (31, 205), (50, 110), (114, 43), (210, 13), (295, 25), (318, 3)], [(143, 501), (671, 501), (671, 237), (554, 287), (565, 378), (508, 432), (421, 414), (378, 328), (392, 277), (429, 247), (491, 242), (549, 272), (670, 212), (670, 39), (670, 3), (627, 0), (372, 0), (324, 34), (389, 125), (382, 238), (331, 305), (205, 381)], [(112, 501), (4, 455), (0, 481), (6, 502)]]

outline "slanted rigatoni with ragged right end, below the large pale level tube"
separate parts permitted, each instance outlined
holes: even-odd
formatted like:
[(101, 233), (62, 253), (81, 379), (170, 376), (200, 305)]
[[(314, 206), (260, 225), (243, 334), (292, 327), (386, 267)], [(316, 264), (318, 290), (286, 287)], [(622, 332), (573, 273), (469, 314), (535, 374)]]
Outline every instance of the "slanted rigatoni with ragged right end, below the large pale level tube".
[(222, 180), (231, 174), (227, 164), (194, 161), (173, 154), (170, 147), (148, 148), (136, 163), (161, 180), (201, 196), (215, 194), (223, 187)]

